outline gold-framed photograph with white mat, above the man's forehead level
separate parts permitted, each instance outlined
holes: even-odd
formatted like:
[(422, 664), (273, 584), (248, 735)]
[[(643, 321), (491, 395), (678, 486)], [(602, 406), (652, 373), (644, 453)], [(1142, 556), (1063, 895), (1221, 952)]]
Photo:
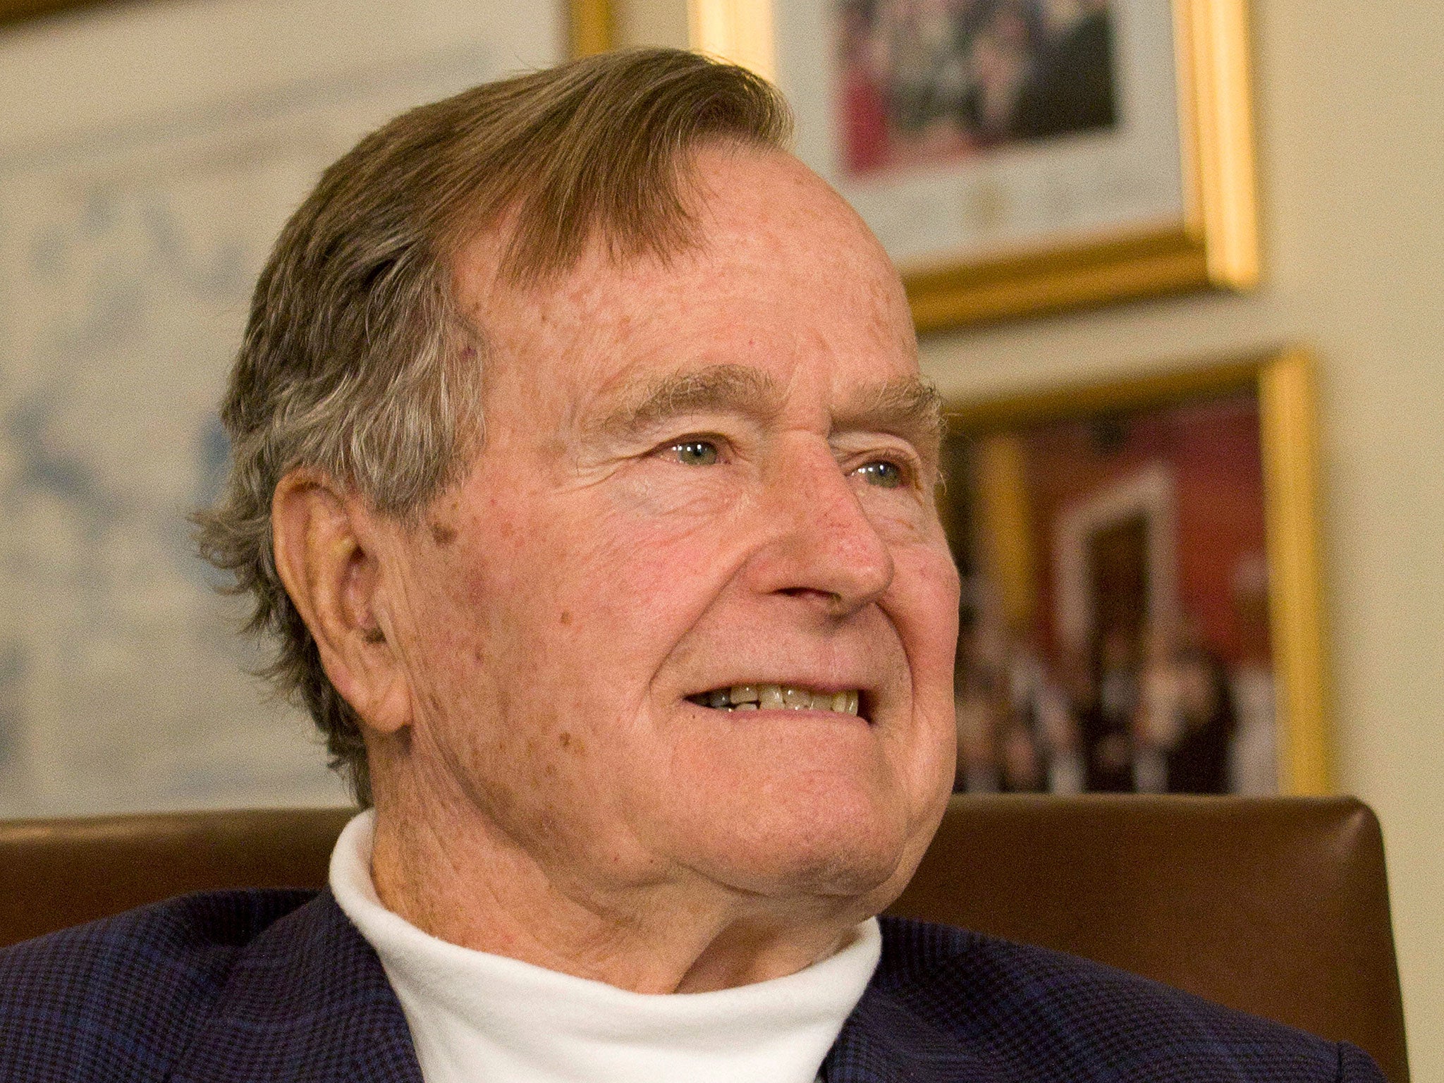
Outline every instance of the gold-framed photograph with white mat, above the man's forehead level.
[(920, 329), (1258, 280), (1243, 0), (692, 0)]

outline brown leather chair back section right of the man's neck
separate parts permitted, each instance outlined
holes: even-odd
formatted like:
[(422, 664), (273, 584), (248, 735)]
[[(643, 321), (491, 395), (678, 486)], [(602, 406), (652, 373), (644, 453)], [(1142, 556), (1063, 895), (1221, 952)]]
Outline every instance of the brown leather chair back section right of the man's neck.
[(1350, 797), (954, 797), (892, 913), (1132, 970), (1408, 1079), (1383, 839)]

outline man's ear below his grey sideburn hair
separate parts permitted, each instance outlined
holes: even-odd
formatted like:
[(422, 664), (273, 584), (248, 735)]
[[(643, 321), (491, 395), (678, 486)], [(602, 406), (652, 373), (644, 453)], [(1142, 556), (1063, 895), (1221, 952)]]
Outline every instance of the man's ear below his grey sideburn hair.
[(271, 498), (271, 536), (276, 570), (336, 692), (380, 734), (410, 725), (375, 514), (325, 474), (296, 469)]

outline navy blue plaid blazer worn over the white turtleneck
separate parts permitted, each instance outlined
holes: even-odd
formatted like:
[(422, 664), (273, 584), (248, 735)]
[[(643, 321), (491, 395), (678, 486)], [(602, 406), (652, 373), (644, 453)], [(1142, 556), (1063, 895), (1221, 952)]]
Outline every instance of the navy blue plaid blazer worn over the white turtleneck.
[[(882, 962), (823, 1074), (1383, 1080), (1353, 1045), (1071, 956), (900, 918), (882, 918)], [(422, 1083), (422, 1073), (380, 960), (331, 892), (222, 891), (0, 952), (0, 1080)]]

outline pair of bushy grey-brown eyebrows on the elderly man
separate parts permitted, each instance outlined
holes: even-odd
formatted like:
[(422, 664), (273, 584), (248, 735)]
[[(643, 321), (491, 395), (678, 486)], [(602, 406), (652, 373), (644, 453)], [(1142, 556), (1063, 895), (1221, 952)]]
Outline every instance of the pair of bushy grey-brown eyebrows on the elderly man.
[[(708, 365), (641, 380), (611, 396), (614, 404), (583, 425), (592, 438), (628, 438), (690, 413), (735, 413), (768, 420), (786, 394), (775, 378), (748, 365)], [(833, 414), (833, 432), (885, 432), (937, 461), (941, 397), (917, 375), (858, 388)]]

